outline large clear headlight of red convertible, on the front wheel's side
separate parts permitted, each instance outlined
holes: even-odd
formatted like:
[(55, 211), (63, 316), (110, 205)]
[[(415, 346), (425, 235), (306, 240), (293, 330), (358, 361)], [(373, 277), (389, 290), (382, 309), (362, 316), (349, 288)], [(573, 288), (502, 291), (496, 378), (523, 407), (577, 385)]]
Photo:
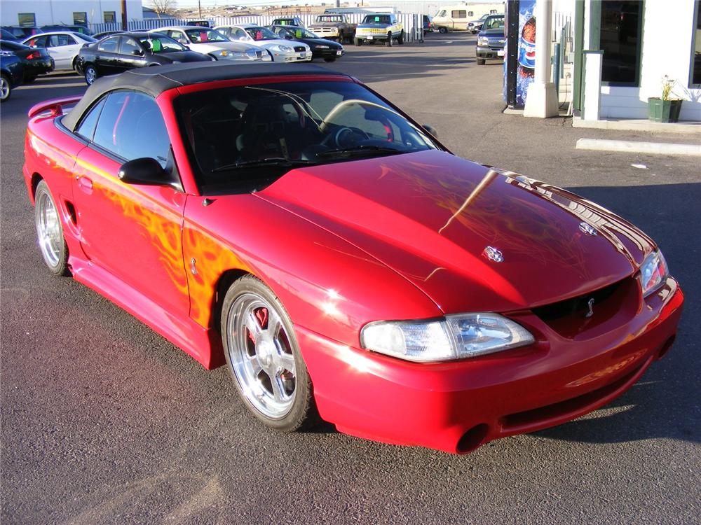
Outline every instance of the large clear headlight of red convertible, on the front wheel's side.
[(480, 356), (535, 341), (499, 314), (459, 314), (433, 321), (377, 321), (360, 330), (367, 350), (419, 363)]

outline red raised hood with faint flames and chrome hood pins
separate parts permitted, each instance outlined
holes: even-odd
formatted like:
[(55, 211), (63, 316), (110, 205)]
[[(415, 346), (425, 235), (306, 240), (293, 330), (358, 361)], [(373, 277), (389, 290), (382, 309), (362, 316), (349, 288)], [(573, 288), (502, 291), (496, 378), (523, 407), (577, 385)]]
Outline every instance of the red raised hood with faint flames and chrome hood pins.
[(633, 274), (654, 246), (572, 193), (441, 151), (295, 169), (256, 195), (358, 246), (445, 313), (581, 295)]

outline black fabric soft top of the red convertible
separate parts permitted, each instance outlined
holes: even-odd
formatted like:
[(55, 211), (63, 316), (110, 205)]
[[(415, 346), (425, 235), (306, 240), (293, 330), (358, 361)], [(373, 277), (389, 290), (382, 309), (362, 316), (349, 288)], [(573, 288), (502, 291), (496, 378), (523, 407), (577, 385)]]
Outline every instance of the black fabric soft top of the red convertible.
[(62, 124), (74, 131), (78, 120), (86, 109), (93, 105), (103, 94), (114, 90), (136, 90), (158, 97), (164, 91), (184, 85), (230, 80), (234, 78), (258, 78), (261, 76), (293, 75), (334, 75), (345, 73), (330, 71), (311, 64), (224, 64), (217, 62), (190, 62), (168, 66), (144, 67), (131, 69), (114, 76), (103, 76), (88, 87), (83, 98), (62, 120)]

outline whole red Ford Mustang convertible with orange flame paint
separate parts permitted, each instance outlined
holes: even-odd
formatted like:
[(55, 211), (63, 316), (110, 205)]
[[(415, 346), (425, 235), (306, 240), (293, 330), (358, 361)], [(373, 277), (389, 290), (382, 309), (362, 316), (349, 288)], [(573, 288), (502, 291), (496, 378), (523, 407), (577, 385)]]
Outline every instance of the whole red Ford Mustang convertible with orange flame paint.
[(457, 158), (344, 74), (188, 65), (32, 108), (39, 247), (226, 364), (268, 426), (465, 453), (604, 405), (672, 345), (681, 289), (610, 211)]

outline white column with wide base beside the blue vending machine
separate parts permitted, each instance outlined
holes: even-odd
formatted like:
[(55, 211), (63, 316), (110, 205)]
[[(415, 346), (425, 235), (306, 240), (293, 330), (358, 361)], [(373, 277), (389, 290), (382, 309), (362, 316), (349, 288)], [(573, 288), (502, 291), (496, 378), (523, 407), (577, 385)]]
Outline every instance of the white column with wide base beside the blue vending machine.
[(557, 93), (550, 80), (552, 0), (536, 0), (536, 76), (529, 85), (524, 117), (557, 117)]

